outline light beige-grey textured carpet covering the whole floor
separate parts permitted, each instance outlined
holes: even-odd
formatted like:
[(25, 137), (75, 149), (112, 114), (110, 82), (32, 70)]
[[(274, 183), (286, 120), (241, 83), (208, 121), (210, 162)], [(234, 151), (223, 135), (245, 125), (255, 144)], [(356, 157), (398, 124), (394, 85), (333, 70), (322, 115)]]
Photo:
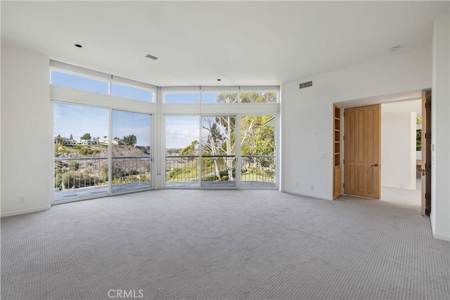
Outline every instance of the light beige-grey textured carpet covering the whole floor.
[(449, 254), (419, 206), (158, 190), (2, 218), (1, 299), (448, 299)]

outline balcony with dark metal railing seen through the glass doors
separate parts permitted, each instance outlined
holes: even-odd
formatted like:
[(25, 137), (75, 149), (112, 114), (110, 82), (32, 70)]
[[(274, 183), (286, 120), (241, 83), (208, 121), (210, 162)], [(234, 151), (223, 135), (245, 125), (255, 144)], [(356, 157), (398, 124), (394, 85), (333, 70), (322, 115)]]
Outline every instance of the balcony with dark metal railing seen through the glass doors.
[[(55, 158), (55, 201), (105, 196), (108, 158)], [(166, 187), (236, 187), (236, 156), (166, 156)], [(148, 156), (113, 157), (113, 194), (150, 189)], [(276, 187), (275, 156), (241, 156), (241, 187)]]

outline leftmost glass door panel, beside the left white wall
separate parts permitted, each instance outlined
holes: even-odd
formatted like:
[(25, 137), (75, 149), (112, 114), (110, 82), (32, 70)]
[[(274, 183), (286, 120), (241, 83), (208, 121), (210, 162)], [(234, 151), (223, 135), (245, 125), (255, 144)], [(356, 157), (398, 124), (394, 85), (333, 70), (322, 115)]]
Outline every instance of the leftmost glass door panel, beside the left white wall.
[(107, 108), (53, 105), (54, 201), (108, 194)]

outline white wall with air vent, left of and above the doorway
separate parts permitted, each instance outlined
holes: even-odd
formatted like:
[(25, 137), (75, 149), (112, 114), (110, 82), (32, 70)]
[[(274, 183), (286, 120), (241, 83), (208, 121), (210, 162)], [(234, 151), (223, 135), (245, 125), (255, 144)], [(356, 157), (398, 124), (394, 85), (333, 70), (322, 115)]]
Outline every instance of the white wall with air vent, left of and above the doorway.
[[(299, 89), (300, 82), (309, 80), (312, 87)], [(334, 102), (427, 87), (431, 87), (429, 48), (283, 84), (281, 189), (332, 199)]]

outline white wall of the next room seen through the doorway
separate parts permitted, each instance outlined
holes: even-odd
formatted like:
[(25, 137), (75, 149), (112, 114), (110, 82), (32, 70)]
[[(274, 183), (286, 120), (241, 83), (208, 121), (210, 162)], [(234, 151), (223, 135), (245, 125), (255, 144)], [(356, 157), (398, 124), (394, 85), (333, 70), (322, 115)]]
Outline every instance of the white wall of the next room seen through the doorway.
[(381, 106), (381, 186), (416, 189), (417, 114), (383, 113), (389, 105)]

